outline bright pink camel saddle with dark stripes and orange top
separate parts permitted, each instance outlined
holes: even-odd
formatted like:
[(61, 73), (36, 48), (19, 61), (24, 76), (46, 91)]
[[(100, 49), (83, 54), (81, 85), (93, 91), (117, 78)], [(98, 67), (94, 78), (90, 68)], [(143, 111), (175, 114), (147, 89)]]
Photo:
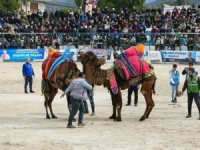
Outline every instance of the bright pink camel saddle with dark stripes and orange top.
[(119, 54), (114, 62), (117, 73), (130, 85), (138, 84), (154, 74), (150, 61), (144, 57), (144, 49), (143, 44), (132, 46)]

